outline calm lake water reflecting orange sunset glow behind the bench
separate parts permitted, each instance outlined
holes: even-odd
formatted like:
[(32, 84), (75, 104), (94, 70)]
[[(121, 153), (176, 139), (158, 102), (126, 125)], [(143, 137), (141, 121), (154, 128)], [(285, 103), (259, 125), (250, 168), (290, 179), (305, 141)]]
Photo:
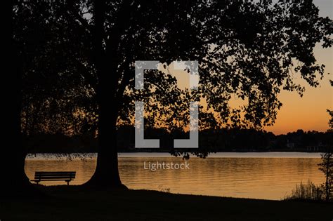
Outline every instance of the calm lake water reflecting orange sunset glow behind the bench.
[[(65, 157), (66, 158), (66, 157)], [(77, 171), (71, 185), (80, 185), (93, 175), (96, 155), (65, 159), (53, 154), (27, 156), (25, 172)], [(207, 159), (192, 157), (188, 170), (148, 170), (150, 163), (185, 163), (181, 158), (159, 153), (119, 154), (122, 182), (131, 189), (155, 189), (181, 194), (281, 199), (299, 182), (324, 182), (318, 170), (320, 154), (308, 153), (217, 153)], [(41, 182), (65, 185), (65, 182)]]

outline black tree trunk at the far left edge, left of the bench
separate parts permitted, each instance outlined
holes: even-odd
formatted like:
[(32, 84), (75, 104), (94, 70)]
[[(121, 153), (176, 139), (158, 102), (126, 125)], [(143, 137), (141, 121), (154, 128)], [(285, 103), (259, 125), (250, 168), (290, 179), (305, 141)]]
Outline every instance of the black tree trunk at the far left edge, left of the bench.
[[(13, 19), (13, 1), (9, 5), (8, 20)], [(22, 105), (22, 58), (20, 57), (15, 43), (13, 41), (13, 32), (8, 32), (8, 41), (11, 42), (11, 48), (8, 48), (8, 56), (3, 67), (8, 70), (2, 76), (1, 82), (1, 99), (4, 108), (3, 121), (1, 126), (4, 131), (1, 133), (1, 187), (0, 197), (16, 197), (16, 196), (36, 196), (37, 190), (30, 183), (27, 175), (25, 175), (25, 147), (22, 143), (21, 132), (21, 105)], [(5, 47), (3, 47), (5, 48)]]

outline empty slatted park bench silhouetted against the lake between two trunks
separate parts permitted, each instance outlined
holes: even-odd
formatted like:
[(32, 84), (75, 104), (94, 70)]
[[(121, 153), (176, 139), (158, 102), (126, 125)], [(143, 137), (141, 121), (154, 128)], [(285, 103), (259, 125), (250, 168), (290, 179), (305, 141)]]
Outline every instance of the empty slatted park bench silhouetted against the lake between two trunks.
[(37, 185), (41, 181), (65, 181), (67, 185), (70, 185), (70, 181), (75, 179), (76, 172), (36, 172), (34, 174), (33, 182), (36, 182)]

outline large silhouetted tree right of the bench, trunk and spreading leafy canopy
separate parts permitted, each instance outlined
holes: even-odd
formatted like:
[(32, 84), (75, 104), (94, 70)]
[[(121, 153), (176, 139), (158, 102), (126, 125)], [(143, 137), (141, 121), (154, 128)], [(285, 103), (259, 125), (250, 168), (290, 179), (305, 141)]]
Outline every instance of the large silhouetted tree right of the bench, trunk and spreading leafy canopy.
[[(63, 4), (63, 3), (61, 3)], [(189, 100), (204, 99), (202, 116), (216, 116), (219, 126), (262, 128), (276, 119), (283, 88), (302, 95), (293, 82), (298, 74), (318, 86), (324, 66), (316, 63), (315, 43), (332, 46), (332, 20), (321, 18), (312, 1), (75, 1), (51, 13), (55, 23), (65, 20), (73, 34), (90, 39), (79, 55), (84, 79), (96, 95), (98, 162), (88, 185), (122, 187), (115, 134), (120, 120), (131, 119), (133, 101), (145, 99), (145, 109), (188, 121)], [(61, 8), (61, 7), (60, 7)], [(35, 16), (35, 15), (32, 15)], [(58, 17), (57, 17), (58, 16)], [(66, 26), (66, 25), (65, 25)], [(71, 39), (78, 43), (81, 39)], [(200, 86), (196, 92), (176, 91), (175, 79), (163, 72), (145, 74), (145, 91), (133, 88), (134, 62), (197, 60)], [(230, 107), (232, 96), (245, 105)], [(184, 102), (179, 102), (184, 98)], [(161, 105), (156, 105), (159, 101)], [(111, 105), (110, 105), (111, 104)], [(167, 112), (168, 108), (163, 112)], [(171, 110), (170, 110), (171, 109)], [(152, 114), (152, 116), (155, 116)], [(162, 115), (160, 120), (163, 121)], [(155, 119), (157, 120), (157, 118)], [(165, 121), (166, 126), (174, 126)], [(215, 123), (214, 123), (215, 124)]]

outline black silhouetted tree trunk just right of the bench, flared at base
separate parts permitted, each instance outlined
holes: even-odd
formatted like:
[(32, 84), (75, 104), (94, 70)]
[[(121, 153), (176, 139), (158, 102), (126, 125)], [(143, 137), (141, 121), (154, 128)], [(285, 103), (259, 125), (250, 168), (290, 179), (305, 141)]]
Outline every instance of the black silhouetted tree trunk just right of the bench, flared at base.
[[(126, 188), (122, 185), (118, 170), (117, 118), (119, 106), (115, 100), (115, 74), (117, 65), (107, 65), (103, 48), (105, 2), (94, 1), (95, 29), (93, 38), (94, 59), (98, 76), (98, 156), (93, 177), (86, 185), (103, 188)], [(113, 76), (112, 76), (113, 74)]]

